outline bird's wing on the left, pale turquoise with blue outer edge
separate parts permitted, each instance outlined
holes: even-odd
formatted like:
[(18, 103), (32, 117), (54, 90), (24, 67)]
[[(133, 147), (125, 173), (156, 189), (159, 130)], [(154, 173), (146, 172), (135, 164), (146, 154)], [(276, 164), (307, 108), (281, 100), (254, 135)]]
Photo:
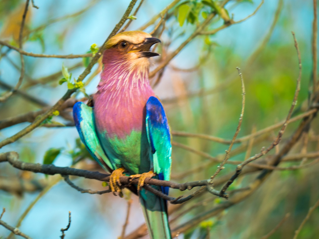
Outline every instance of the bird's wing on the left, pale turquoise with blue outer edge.
[(100, 145), (95, 131), (93, 108), (83, 102), (77, 102), (73, 106), (73, 119), (87, 150), (105, 171), (111, 173), (115, 168)]

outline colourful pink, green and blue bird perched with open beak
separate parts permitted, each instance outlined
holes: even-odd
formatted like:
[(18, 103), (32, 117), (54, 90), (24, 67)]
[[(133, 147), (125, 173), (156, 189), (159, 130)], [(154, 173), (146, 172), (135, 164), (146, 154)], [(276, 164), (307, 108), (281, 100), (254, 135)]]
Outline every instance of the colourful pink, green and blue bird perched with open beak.
[[(92, 157), (110, 173), (110, 189), (123, 196), (120, 176), (139, 178), (130, 190), (139, 196), (151, 239), (170, 239), (167, 201), (143, 188), (146, 178), (170, 180), (171, 134), (164, 108), (149, 83), (150, 48), (161, 41), (127, 31), (105, 44), (97, 92), (78, 102), (73, 118)], [(152, 186), (168, 195), (168, 187)]]

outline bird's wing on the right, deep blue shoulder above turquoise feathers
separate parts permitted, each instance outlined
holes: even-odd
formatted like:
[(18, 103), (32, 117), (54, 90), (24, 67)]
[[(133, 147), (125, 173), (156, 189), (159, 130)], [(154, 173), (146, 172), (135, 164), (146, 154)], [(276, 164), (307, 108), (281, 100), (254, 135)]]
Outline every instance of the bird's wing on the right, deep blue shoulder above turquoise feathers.
[[(146, 132), (153, 154), (153, 169), (161, 180), (170, 180), (172, 145), (168, 121), (162, 104), (151, 96), (146, 102)], [(162, 187), (168, 194), (168, 187)]]

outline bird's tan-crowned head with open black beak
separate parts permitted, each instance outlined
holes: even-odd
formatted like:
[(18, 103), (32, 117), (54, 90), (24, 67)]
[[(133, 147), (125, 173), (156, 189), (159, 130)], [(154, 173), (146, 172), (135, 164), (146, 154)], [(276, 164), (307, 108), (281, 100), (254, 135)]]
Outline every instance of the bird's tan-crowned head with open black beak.
[(148, 66), (148, 59), (159, 55), (150, 51), (152, 45), (158, 42), (161, 41), (142, 31), (118, 33), (106, 43), (103, 63), (122, 62)]

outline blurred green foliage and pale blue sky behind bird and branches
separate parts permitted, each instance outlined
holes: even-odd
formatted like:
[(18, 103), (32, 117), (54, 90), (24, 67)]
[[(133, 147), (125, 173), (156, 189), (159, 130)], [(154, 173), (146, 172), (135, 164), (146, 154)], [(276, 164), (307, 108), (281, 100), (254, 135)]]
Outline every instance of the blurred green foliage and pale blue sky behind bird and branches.
[[(223, 1), (174, 2), (176, 4), (165, 16), (165, 25), (161, 24), (153, 34), (160, 37), (163, 44), (156, 48), (156, 51), (161, 52), (161, 57), (154, 59), (152, 69), (180, 46), (209, 13), (216, 12), (217, 16), (205, 31), (223, 25), (223, 14), (238, 21), (253, 13), (260, 4), (257, 0), (229, 1), (225, 12), (219, 7)], [(136, 15), (137, 19), (132, 21), (128, 30), (139, 29), (170, 3), (170, 0), (145, 0)], [(100, 46), (104, 42), (129, 1), (35, 0), (34, 4), (39, 9), (29, 7), (23, 32), (23, 49), (26, 52), (85, 54), (94, 52), (94, 43)], [(0, 40), (16, 47), (19, 46), (24, 5), (25, 1), (20, 0), (0, 1)], [(145, 31), (152, 32), (159, 19), (146, 27)], [(298, 77), (298, 58), (291, 31), (296, 34), (303, 67), (301, 90), (294, 115), (304, 112), (311, 86), (309, 82), (312, 79), (312, 20), (312, 1), (265, 1), (254, 16), (242, 23), (230, 25), (216, 34), (197, 36), (160, 73), (160, 78), (156, 75), (151, 79), (156, 94), (163, 101), (172, 130), (230, 140), (241, 112), (241, 82), (235, 69), (237, 66), (242, 70), (246, 87), (245, 114), (238, 137), (285, 119)], [(19, 79), (20, 61), (16, 51), (5, 46), (0, 46), (0, 50), (0, 91), (5, 92), (8, 85), (14, 86)], [(86, 58), (28, 56), (24, 59), (26, 74), (23, 84), (19, 92), (0, 103), (0, 120), (55, 104), (67, 90), (67, 84), (59, 84), (63, 78), (62, 63), (72, 73), (72, 82), (88, 61)], [(80, 99), (95, 92), (100, 68), (99, 62), (84, 81), (85, 91), (82, 90), (73, 97)], [(20, 159), (25, 162), (53, 162), (57, 166), (100, 170), (90, 160), (85, 147), (79, 141), (76, 129), (72, 127), (70, 113), (71, 108), (68, 108), (59, 115), (54, 115), (43, 127), (1, 148), (0, 152), (17, 151)], [(1, 140), (19, 132), (28, 124), (24, 122), (2, 129)], [(279, 148), (297, 125), (298, 122), (295, 122), (288, 126)], [(315, 119), (308, 134), (301, 138), (290, 154), (318, 151), (317, 125), (318, 120)], [(244, 143), (235, 144), (230, 160), (243, 161), (258, 153), (261, 147), (271, 143), (277, 133), (278, 129), (268, 132), (262, 140), (256, 139), (251, 148)], [(228, 148), (227, 144), (193, 137), (173, 135), (173, 140), (211, 156), (223, 156)], [(273, 149), (269, 155), (276, 150)], [(207, 179), (218, 165), (176, 146), (173, 148), (172, 159), (172, 180), (175, 182)], [(284, 162), (280, 166), (299, 164), (300, 161)], [(194, 170), (203, 165), (200, 170)], [(218, 177), (233, 173), (234, 169), (235, 165), (227, 164)], [(300, 170), (275, 170), (244, 201), (223, 210), (215, 217), (202, 220), (179, 238), (261, 238), (275, 228), (286, 213), (290, 213), (289, 218), (270, 238), (292, 238), (309, 207), (319, 197), (318, 170), (317, 164)], [(185, 172), (189, 173), (182, 175)], [(247, 186), (256, 175), (255, 172), (238, 178), (230, 189)], [(71, 179), (83, 188), (103, 190), (99, 181)], [(60, 228), (67, 225), (68, 211), (72, 212), (72, 223), (66, 232), (67, 238), (117, 238), (121, 234), (127, 200), (130, 197), (133, 199), (133, 206), (127, 234), (144, 221), (137, 197), (130, 196), (129, 193), (126, 200), (111, 194), (81, 194), (61, 181), (60, 176), (23, 172), (13, 169), (8, 163), (0, 164), (0, 180), (0, 206), (6, 208), (2, 220), (16, 225), (21, 215), (30, 209), (19, 228), (32, 238), (58, 238)], [(9, 187), (5, 187), (9, 185), (7, 181), (11, 182)], [(181, 194), (188, 195), (189, 192), (170, 190), (172, 196)], [(30, 208), (35, 200), (35, 205)], [(225, 199), (216, 199), (206, 192), (183, 205), (169, 205), (170, 210), (175, 210), (171, 218), (183, 212), (182, 216), (171, 223), (171, 228), (176, 228), (223, 202)], [(302, 228), (299, 238), (317, 238), (318, 220), (319, 209), (316, 209)], [(5, 238), (9, 231), (0, 227), (0, 235)]]

